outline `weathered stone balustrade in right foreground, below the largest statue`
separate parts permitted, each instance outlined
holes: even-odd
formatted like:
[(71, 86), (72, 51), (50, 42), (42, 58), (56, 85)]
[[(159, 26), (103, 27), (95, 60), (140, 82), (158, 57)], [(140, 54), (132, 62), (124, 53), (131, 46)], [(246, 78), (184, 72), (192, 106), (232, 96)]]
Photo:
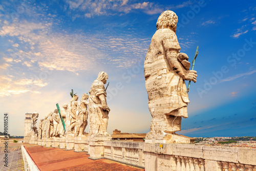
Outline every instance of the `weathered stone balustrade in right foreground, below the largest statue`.
[(145, 170), (255, 170), (256, 149), (144, 143)]

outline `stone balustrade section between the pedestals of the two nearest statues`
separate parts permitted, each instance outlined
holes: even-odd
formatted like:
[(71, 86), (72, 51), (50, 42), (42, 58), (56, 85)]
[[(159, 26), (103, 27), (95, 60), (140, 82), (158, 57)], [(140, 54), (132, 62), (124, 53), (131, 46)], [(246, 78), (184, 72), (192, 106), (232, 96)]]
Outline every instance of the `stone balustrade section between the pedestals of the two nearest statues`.
[(104, 141), (104, 158), (144, 168), (143, 143)]

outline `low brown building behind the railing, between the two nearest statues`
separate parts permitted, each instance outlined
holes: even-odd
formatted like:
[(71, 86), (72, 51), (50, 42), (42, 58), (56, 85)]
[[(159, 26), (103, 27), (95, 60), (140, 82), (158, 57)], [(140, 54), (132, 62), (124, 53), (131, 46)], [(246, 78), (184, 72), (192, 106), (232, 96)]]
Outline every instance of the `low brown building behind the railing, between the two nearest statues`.
[(144, 142), (146, 134), (131, 134), (131, 133), (121, 133), (117, 129), (113, 131), (112, 140), (115, 141), (134, 141), (134, 142)]

